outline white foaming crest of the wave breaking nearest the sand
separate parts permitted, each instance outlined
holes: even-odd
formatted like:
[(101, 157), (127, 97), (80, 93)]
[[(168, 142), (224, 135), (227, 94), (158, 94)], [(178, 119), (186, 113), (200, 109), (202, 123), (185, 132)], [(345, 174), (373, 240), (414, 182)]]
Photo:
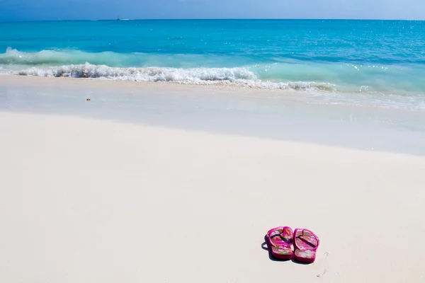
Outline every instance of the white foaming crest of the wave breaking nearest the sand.
[(294, 81), (276, 83), (261, 81), (246, 68), (114, 68), (105, 65), (79, 64), (61, 67), (30, 67), (12, 74), (21, 76), (51, 76), (87, 79), (117, 79), (123, 81), (174, 81), (179, 83), (215, 84), (234, 83), (254, 88), (309, 89), (334, 91), (331, 83)]

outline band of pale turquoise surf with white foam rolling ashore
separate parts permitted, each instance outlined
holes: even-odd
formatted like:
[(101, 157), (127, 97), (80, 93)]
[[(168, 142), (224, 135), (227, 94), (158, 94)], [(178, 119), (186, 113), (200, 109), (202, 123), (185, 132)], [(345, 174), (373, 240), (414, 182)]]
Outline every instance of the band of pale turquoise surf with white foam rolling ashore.
[(425, 91), (421, 65), (323, 62), (262, 62), (232, 54), (164, 54), (8, 48), (0, 54), (0, 74), (64, 76), (125, 81), (236, 83), (255, 88), (338, 93), (409, 94)]

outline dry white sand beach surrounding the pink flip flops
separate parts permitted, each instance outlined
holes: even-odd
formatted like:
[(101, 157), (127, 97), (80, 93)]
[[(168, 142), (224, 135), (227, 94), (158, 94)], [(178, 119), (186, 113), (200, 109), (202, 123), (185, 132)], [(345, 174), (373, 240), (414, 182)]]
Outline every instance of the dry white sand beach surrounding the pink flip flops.
[[(424, 156), (16, 109), (0, 282), (425, 282)], [(314, 264), (269, 258), (280, 225)]]

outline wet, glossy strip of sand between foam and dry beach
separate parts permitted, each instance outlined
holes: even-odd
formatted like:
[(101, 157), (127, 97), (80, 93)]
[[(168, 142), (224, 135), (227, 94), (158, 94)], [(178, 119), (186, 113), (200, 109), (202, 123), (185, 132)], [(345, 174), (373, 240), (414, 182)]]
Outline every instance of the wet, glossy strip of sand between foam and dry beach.
[[(301, 93), (301, 94), (300, 94)], [(0, 110), (425, 155), (422, 112), (320, 104), (303, 91), (0, 76)], [(90, 102), (86, 99), (91, 99)]]

